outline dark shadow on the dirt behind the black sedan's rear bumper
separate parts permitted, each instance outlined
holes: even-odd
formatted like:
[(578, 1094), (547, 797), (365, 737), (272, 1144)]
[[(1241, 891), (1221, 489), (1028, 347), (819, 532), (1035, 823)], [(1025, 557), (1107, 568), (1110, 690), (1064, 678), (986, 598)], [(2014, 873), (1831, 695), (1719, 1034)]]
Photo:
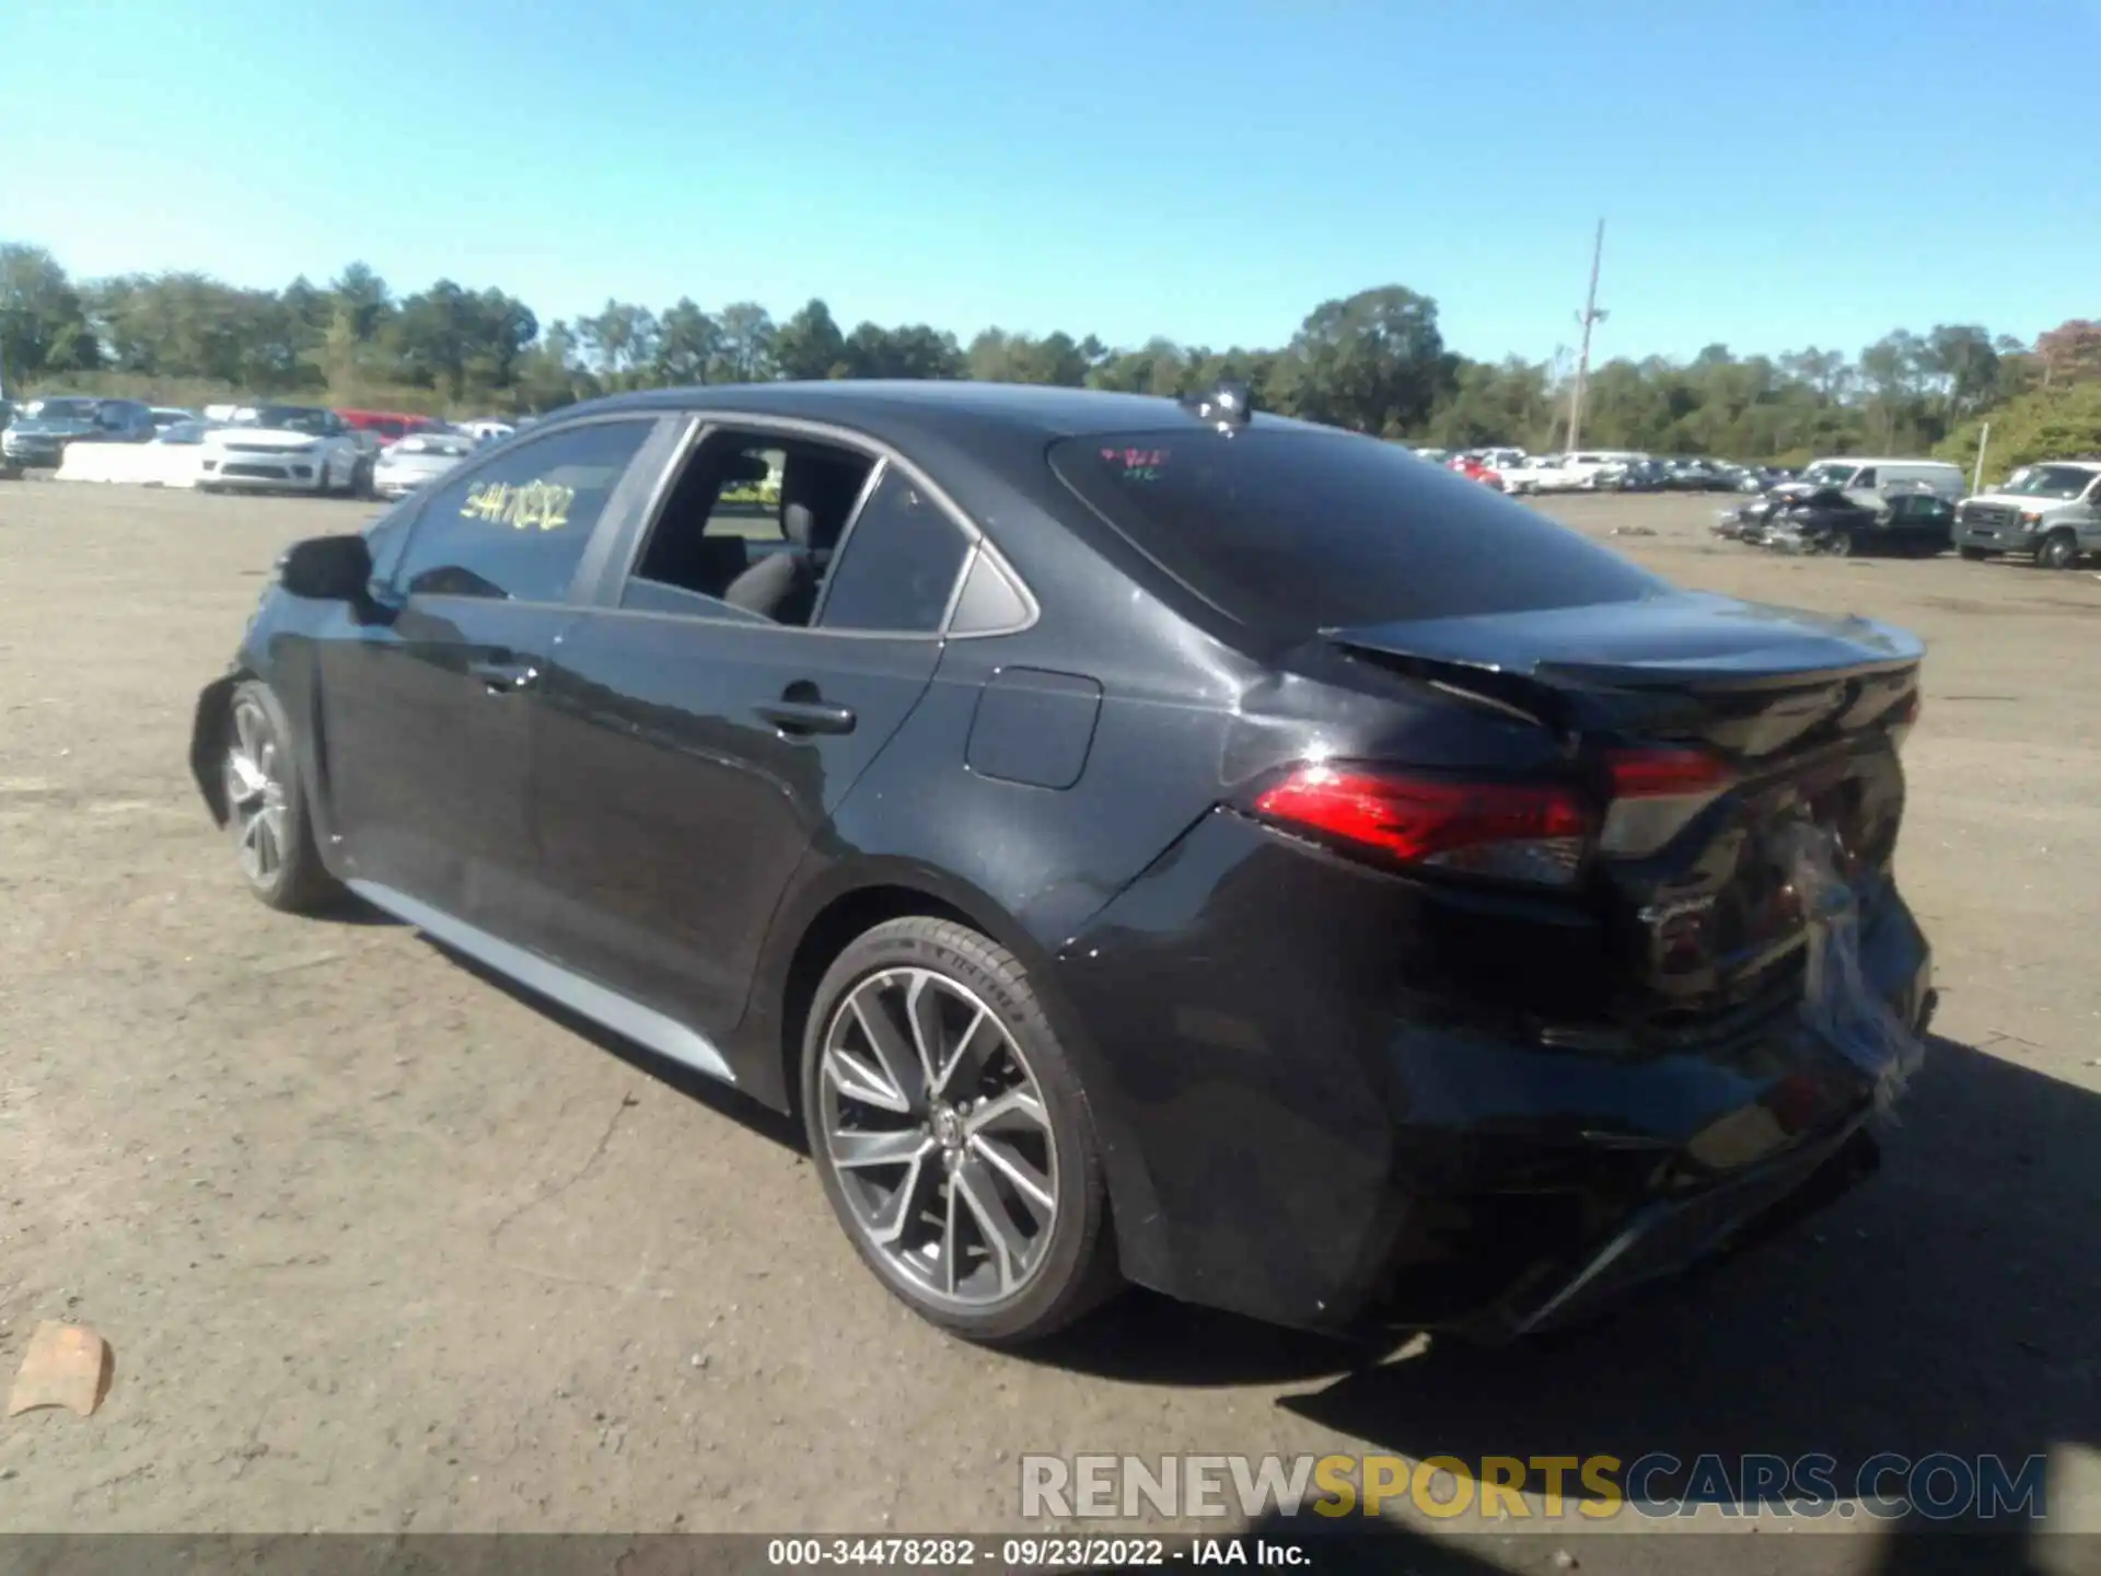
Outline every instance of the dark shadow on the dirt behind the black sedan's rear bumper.
[(1748, 1454), (1822, 1452), (1840, 1496), (1885, 1452), (2017, 1473), (2101, 1446), (2101, 1097), (1935, 1038), (1899, 1116), (1855, 1194), (1578, 1330), (1498, 1351), (1433, 1339), (1334, 1372), (1330, 1343), (1151, 1299), (1040, 1355), (1193, 1385), (1326, 1357), (1332, 1378), (1280, 1404), (1378, 1452), (1668, 1452), (1721, 1456), (1731, 1479)]

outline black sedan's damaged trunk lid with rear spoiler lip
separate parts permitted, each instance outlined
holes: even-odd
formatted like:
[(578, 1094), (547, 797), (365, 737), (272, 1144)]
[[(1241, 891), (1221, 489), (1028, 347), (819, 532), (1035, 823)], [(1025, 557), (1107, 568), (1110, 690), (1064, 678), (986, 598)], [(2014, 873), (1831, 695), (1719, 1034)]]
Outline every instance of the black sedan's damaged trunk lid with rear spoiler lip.
[[(1324, 635), (1532, 717), (1595, 786), (1603, 830), (1582, 901), (1614, 956), (1601, 1007), (1616, 1032), (1677, 1034), (1798, 998), (1790, 828), (1830, 832), (1864, 893), (1887, 880), (1925, 656), (1906, 630), (1681, 593)], [(1611, 775), (1628, 752), (1649, 763), (1645, 782)], [(1702, 761), (1712, 780), (1679, 771)]]

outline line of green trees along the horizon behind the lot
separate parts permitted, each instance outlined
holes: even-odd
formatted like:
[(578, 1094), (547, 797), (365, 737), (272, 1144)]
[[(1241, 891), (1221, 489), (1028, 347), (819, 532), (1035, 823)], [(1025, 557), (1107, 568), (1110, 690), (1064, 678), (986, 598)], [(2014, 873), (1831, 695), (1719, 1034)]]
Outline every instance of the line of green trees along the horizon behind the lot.
[[(929, 324), (843, 328), (824, 300), (784, 319), (752, 300), (691, 298), (542, 324), (517, 296), (439, 279), (395, 294), (363, 263), (317, 286), (229, 286), (204, 273), (71, 279), (36, 246), (0, 244), (0, 380), (197, 403), (233, 393), (435, 414), (546, 412), (626, 389), (771, 378), (981, 378), (1183, 395), (1221, 378), (1256, 401), (1382, 437), (1553, 450), (1574, 366), (1450, 349), (1437, 303), (1403, 286), (1315, 307), (1273, 349)], [(1847, 452), (1969, 458), (1992, 420), (1994, 469), (2101, 450), (2101, 322), (2019, 340), (1979, 324), (1895, 330), (1847, 353), (1809, 347), (1590, 368), (1582, 441), (1740, 460)]]

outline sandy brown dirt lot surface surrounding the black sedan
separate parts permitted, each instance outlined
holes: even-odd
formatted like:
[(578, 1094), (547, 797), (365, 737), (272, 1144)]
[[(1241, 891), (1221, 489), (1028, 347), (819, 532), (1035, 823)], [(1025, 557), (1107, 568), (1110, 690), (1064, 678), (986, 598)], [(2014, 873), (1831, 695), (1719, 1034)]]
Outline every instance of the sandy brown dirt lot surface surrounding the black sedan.
[[(2053, 1452), (2074, 1509), (2101, 582), (1777, 561), (1710, 542), (1714, 500), (1553, 509), (1651, 530), (1616, 544), (1681, 582), (1931, 641), (1899, 859), (1943, 1038), (1882, 1177), (1813, 1231), (1555, 1345), (1359, 1368), (1139, 1297), (1032, 1360), (950, 1343), (859, 1269), (779, 1124), (410, 929), (271, 914), (185, 775), (189, 706), (271, 553), (366, 509), (0, 485), (0, 1378), (42, 1318), (118, 1353), (90, 1421), (0, 1423), (0, 1526), (996, 1530), (1040, 1450)], [(1780, 1568), (1904, 1568), (1845, 1530)], [(1567, 1536), (1481, 1553), (1546, 1570)]]

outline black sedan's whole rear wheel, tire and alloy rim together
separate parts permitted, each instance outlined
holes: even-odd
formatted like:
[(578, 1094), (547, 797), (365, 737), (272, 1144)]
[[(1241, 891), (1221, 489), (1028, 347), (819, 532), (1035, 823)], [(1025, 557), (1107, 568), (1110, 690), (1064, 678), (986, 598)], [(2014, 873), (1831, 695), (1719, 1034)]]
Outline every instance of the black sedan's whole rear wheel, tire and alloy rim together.
[(861, 1261), (931, 1324), (1019, 1345), (1118, 1286), (1095, 1124), (1021, 962), (897, 918), (826, 971), (803, 1122)]

